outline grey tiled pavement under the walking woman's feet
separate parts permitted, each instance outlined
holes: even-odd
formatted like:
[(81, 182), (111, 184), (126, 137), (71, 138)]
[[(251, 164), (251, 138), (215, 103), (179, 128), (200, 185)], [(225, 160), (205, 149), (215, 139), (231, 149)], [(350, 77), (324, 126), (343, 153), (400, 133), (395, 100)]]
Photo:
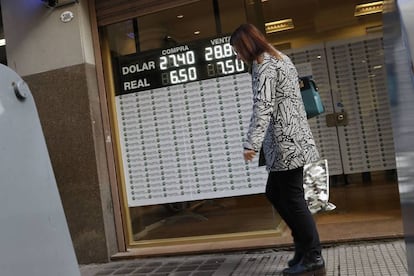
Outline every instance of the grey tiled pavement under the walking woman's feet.
[[(408, 276), (404, 239), (326, 245), (327, 276)], [(271, 276), (282, 275), (293, 252), (265, 249), (81, 265), (82, 276)]]

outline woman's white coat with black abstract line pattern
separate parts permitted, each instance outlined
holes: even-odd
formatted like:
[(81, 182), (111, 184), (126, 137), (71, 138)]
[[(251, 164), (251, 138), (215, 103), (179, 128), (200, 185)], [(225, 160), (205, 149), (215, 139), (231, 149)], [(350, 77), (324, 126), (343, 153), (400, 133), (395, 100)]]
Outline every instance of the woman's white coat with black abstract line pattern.
[(245, 149), (262, 149), (260, 160), (268, 171), (292, 170), (319, 159), (297, 70), (289, 57), (280, 55), (264, 53), (262, 63), (253, 62), (253, 112), (243, 143)]

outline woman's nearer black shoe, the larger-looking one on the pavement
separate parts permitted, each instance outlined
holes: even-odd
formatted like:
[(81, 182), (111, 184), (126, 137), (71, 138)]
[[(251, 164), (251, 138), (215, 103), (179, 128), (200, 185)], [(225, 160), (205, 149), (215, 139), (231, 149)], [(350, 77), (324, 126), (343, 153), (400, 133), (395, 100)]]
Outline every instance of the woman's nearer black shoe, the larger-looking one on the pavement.
[(296, 265), (283, 270), (283, 276), (325, 276), (325, 262), (319, 252), (309, 252)]

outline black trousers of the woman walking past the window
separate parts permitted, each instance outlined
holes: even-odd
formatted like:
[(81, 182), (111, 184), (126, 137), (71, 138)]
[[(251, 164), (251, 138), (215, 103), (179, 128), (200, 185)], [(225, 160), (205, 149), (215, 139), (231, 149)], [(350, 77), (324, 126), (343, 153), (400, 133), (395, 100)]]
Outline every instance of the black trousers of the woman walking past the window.
[(289, 226), (295, 250), (321, 252), (318, 230), (304, 197), (303, 167), (270, 172), (266, 197)]

